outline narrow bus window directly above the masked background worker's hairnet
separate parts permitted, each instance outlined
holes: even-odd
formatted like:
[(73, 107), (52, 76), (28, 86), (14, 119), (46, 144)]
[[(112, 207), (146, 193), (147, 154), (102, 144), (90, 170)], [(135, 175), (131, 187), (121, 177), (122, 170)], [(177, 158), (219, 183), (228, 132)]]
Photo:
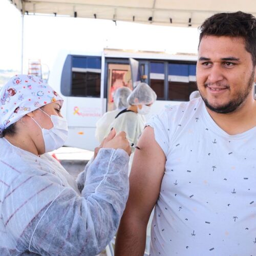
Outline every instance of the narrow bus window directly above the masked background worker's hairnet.
[(157, 99), (164, 99), (164, 63), (150, 63), (150, 87), (157, 94)]

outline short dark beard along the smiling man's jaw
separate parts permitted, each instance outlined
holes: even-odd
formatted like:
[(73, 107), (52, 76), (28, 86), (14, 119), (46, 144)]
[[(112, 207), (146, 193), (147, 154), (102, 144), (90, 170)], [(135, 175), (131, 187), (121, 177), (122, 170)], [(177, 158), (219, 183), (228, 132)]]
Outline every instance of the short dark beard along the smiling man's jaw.
[[(253, 86), (253, 80), (254, 80), (254, 70), (251, 73), (250, 79), (247, 83), (247, 87), (245, 88), (244, 92), (240, 92), (240, 94), (237, 96), (237, 98), (234, 98), (232, 100), (230, 100), (228, 103), (224, 104), (224, 105), (219, 105), (219, 106), (213, 106), (211, 105), (208, 100), (206, 98), (204, 98), (201, 94), (201, 97), (205, 103), (205, 105), (207, 106), (207, 108), (211, 111), (214, 111), (216, 113), (221, 113), (221, 114), (227, 114), (233, 111), (236, 111), (239, 106), (246, 100), (246, 98), (248, 97), (249, 93), (251, 92), (251, 88)], [(207, 83), (205, 83), (205, 87), (207, 86)]]

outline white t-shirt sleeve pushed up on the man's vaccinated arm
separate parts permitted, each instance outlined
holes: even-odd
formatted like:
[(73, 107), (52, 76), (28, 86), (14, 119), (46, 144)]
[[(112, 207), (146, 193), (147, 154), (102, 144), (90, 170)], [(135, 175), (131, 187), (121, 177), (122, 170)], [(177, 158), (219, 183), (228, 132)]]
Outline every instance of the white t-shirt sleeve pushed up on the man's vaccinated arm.
[(154, 129), (155, 140), (162, 148), (165, 156), (167, 156), (169, 148), (169, 128), (166, 111), (162, 111), (160, 114), (153, 115), (146, 122), (145, 126), (151, 126)]

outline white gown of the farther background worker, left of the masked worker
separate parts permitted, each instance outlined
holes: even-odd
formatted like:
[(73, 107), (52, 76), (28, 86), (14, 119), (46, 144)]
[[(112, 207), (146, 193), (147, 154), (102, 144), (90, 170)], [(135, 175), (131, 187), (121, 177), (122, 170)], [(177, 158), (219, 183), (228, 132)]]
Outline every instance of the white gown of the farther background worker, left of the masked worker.
[(110, 127), (110, 124), (115, 120), (115, 117), (117, 116), (117, 114), (121, 112), (123, 109), (124, 108), (106, 112), (96, 122), (95, 138), (96, 140), (99, 141), (99, 143), (101, 143), (101, 141), (108, 135), (108, 131), (110, 131), (110, 129), (112, 128)]

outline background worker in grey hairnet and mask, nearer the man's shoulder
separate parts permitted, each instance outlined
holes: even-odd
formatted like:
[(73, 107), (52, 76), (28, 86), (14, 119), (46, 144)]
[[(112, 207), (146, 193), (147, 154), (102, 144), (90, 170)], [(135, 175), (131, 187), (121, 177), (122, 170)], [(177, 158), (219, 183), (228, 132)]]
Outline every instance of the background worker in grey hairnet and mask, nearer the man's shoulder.
[[(109, 126), (114, 128), (116, 132), (124, 131), (126, 138), (131, 144), (136, 145), (138, 139), (144, 129), (145, 115), (151, 111), (152, 104), (156, 101), (156, 93), (148, 86), (148, 84), (141, 82), (127, 98), (129, 107), (121, 111), (115, 120)], [(134, 153), (135, 147), (132, 147)], [(131, 170), (133, 161), (133, 154), (130, 157), (129, 172)]]

